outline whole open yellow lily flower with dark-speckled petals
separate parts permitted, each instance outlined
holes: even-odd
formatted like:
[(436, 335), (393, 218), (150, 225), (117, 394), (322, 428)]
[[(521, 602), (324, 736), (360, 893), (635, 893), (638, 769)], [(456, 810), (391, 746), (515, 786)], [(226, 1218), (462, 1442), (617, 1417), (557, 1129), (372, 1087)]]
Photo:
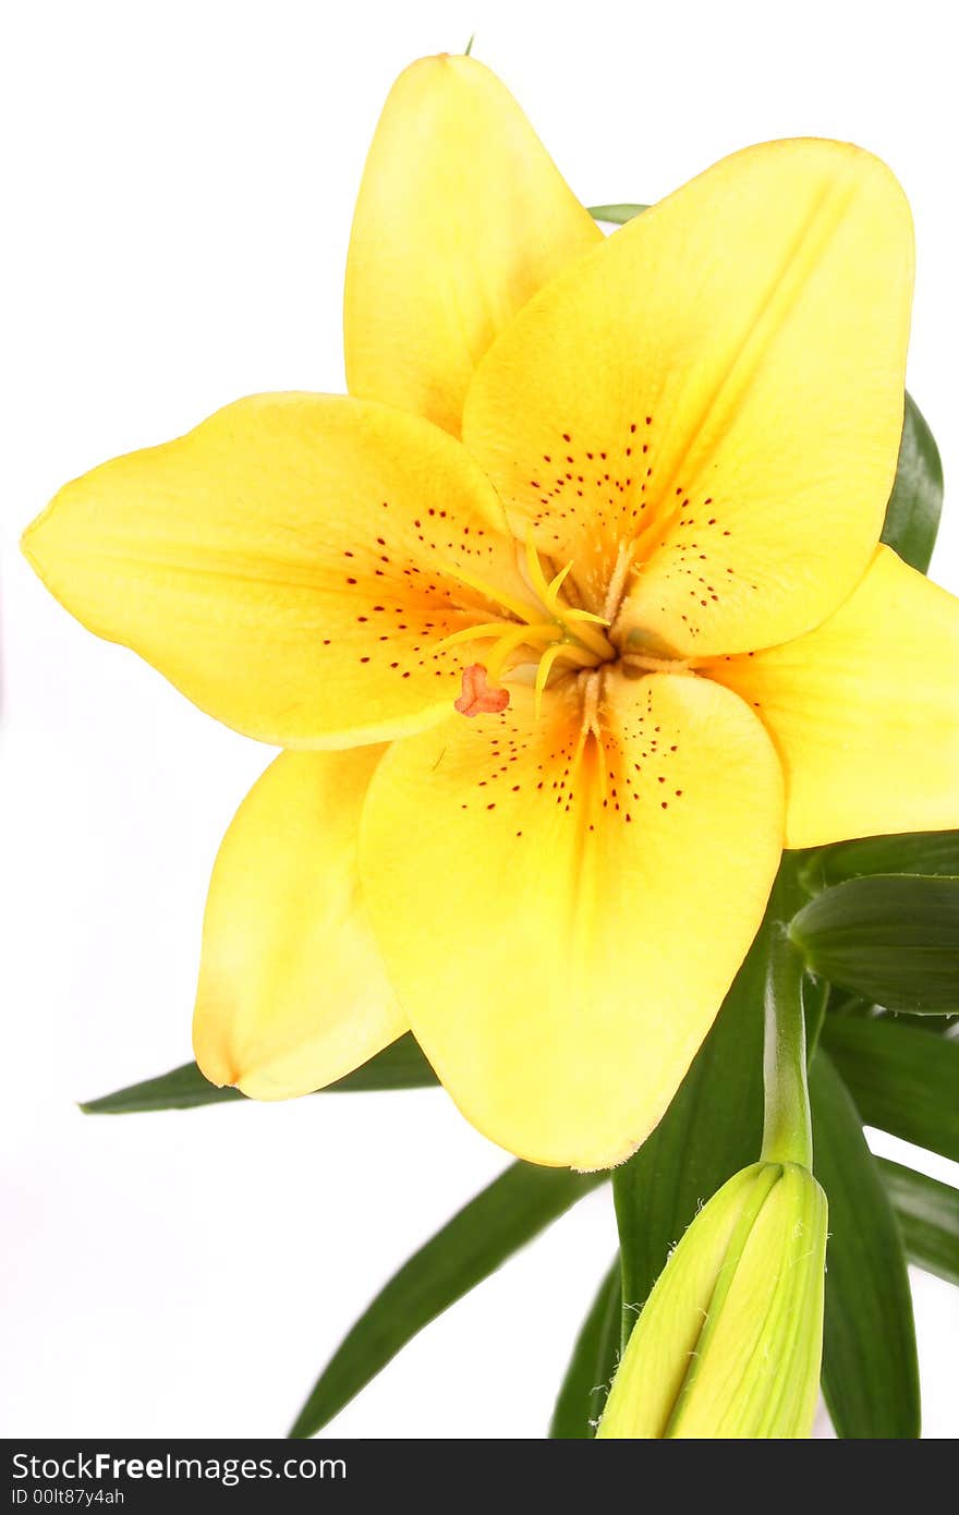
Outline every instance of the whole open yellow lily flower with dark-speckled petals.
[(494, 1141), (620, 1162), (783, 845), (959, 824), (957, 601), (877, 547), (911, 283), (854, 147), (736, 153), (603, 239), (488, 70), (401, 76), (351, 397), (242, 400), (24, 542), (289, 748), (214, 873), (209, 1079), (303, 1094), (412, 1026)]

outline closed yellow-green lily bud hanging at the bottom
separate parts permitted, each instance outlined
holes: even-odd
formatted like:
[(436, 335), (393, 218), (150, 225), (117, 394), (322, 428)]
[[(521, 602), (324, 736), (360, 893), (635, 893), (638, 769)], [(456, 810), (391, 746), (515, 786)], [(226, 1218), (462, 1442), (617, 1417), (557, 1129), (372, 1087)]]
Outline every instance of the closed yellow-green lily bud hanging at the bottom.
[(597, 1436), (807, 1436), (826, 1217), (798, 1164), (758, 1162), (724, 1183), (656, 1280)]

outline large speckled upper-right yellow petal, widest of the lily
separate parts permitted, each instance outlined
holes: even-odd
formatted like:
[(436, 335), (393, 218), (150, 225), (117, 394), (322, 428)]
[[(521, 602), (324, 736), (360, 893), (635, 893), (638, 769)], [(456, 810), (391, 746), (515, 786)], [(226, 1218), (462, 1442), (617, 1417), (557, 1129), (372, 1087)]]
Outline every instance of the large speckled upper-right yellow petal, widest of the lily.
[[(912, 223), (839, 142), (736, 153), (561, 274), (480, 364), (464, 441), (615, 633), (679, 656), (817, 626), (879, 539)], [(606, 606), (609, 614), (609, 606)]]

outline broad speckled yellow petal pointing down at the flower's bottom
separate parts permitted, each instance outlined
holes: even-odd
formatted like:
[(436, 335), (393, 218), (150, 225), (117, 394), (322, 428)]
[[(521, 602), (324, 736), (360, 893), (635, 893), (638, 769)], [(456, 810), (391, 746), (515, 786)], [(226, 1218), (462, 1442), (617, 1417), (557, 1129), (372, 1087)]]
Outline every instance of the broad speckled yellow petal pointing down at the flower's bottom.
[[(701, 679), (606, 674), (576, 759), (574, 682), (394, 744), (361, 873), (389, 977), (474, 1126), (601, 1168), (656, 1126), (762, 918), (782, 773)], [(603, 776), (604, 774), (604, 776)], [(429, 921), (424, 938), (423, 921)]]

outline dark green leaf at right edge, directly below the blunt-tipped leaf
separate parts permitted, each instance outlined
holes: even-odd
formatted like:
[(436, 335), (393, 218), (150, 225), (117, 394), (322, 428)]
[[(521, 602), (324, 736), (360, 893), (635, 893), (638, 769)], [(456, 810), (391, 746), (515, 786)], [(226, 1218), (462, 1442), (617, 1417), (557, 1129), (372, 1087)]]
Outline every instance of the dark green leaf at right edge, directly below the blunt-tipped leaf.
[(959, 1041), (885, 1017), (827, 1015), (823, 1045), (867, 1126), (959, 1162)]

